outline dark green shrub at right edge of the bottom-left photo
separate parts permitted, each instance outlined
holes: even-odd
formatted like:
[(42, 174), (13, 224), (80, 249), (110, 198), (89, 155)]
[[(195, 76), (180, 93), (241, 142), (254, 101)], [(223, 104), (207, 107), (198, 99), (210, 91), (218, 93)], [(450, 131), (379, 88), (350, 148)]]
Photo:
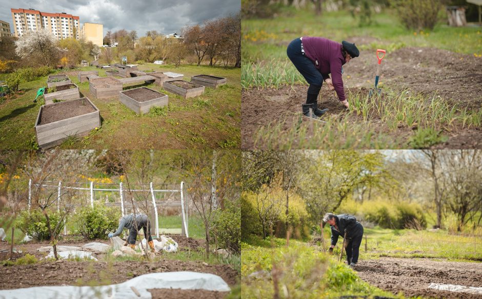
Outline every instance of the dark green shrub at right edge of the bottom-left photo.
[(233, 253), (240, 253), (241, 207), (239, 199), (235, 202), (225, 201), (224, 209), (216, 211), (212, 233), (222, 248)]

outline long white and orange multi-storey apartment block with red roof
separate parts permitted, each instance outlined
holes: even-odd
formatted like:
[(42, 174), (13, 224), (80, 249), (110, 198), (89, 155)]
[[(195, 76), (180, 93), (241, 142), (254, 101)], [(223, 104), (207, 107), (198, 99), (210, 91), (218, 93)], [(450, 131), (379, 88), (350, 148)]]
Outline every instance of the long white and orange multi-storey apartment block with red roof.
[(34, 9), (11, 9), (13, 19), (13, 31), (16, 37), (27, 34), (28, 31), (36, 31), (46, 28), (57, 39), (67, 37), (79, 38), (78, 16), (62, 13), (41, 12)]

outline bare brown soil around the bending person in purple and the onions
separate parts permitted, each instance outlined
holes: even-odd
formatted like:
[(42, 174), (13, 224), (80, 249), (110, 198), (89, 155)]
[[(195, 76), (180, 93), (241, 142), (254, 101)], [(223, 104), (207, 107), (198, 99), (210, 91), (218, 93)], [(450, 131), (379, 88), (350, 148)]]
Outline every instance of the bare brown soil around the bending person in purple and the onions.
[[(380, 82), (385, 88), (403, 90), (410, 88), (415, 93), (437, 95), (449, 103), (469, 110), (482, 109), (482, 59), (473, 55), (453, 53), (430, 48), (402, 48), (388, 53), (383, 60)], [(376, 71), (376, 57), (373, 51), (362, 51), (360, 57), (344, 66), (346, 92), (368, 93)], [(242, 90), (242, 148), (263, 148), (255, 144), (254, 135), (260, 127), (285, 120), (283, 130), (288, 130), (298, 119), (301, 104), (306, 101), (307, 86), (288, 86), (278, 90)], [(320, 108), (330, 109), (325, 117), (339, 117), (343, 106), (326, 86), (320, 91)], [(363, 121), (350, 117), (349, 122)], [(372, 126), (377, 133), (389, 133), (395, 139), (407, 140), (412, 128), (399, 127), (388, 132), (386, 125)], [(439, 128), (449, 137), (436, 148), (479, 148), (482, 147), (480, 128), (461, 129)]]

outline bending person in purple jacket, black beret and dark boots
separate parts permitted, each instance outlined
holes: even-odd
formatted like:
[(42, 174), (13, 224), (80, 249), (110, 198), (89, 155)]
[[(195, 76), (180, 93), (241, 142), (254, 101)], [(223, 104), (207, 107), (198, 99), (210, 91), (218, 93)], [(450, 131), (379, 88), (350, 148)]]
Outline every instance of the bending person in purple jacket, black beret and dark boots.
[[(325, 114), (328, 109), (318, 109), (318, 94), (323, 81), (328, 88), (335, 90), (340, 103), (348, 109), (349, 104), (343, 88), (343, 65), (351, 58), (358, 57), (360, 52), (355, 44), (336, 41), (322, 37), (303, 36), (291, 41), (286, 50), (288, 57), (310, 86), (308, 87), (306, 104), (303, 104), (303, 114), (309, 114), (313, 109), (313, 117), (318, 118)], [(331, 78), (329, 76), (331, 74)]]

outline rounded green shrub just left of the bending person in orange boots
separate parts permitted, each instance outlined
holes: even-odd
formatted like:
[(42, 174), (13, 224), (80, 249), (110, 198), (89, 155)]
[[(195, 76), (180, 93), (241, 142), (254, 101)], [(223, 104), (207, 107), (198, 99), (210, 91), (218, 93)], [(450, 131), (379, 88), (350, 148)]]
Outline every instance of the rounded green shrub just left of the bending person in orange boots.
[(113, 207), (94, 204), (77, 212), (78, 230), (86, 239), (106, 239), (107, 233), (117, 229), (121, 212)]

